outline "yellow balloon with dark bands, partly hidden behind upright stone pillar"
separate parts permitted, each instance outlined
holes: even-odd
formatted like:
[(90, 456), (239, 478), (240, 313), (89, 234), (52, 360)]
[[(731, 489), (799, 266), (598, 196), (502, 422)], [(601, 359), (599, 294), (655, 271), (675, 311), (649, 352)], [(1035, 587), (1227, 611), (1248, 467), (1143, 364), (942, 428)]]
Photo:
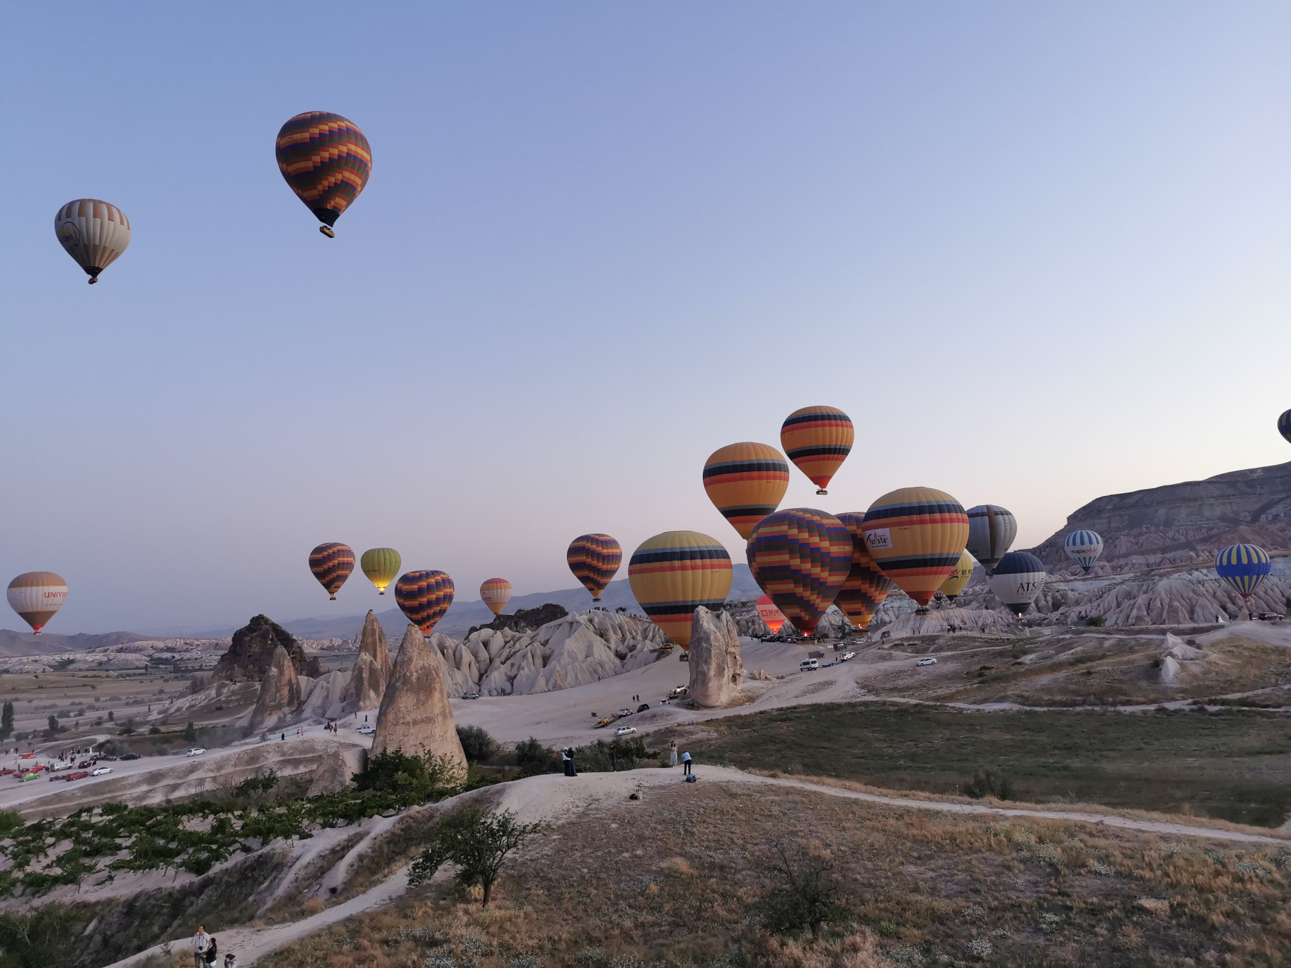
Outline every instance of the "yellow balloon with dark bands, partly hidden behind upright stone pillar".
[(731, 555), (707, 534), (666, 530), (633, 552), (627, 581), (651, 621), (688, 652), (695, 609), (717, 609), (731, 591)]

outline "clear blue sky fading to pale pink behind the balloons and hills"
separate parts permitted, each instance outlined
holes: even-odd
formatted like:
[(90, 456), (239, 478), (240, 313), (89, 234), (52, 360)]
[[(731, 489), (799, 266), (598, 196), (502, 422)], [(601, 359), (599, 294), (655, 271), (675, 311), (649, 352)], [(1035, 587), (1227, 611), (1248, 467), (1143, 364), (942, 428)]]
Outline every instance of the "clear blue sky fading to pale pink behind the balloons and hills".
[[(1281, 462), (1281, 4), (10, 4), (0, 569), (49, 631), (328, 603), (309, 550), (568, 587), (568, 541), (742, 542), (700, 469), (828, 403), (828, 498), (1017, 514)], [(324, 239), (274, 163), (336, 111)], [(65, 201), (129, 216), (96, 287)], [(625, 569), (626, 572), (626, 569)], [(389, 596), (381, 599), (390, 601)], [(23, 629), (17, 616), (8, 627)]]

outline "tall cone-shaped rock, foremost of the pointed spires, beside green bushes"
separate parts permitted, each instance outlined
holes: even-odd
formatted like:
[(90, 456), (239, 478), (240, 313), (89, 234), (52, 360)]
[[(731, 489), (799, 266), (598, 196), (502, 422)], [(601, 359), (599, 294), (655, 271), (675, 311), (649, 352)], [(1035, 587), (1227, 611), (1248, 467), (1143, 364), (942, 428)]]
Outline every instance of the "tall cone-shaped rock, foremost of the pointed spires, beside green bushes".
[(442, 756), (466, 769), (466, 754), (448, 705), (440, 657), (411, 623), (399, 645), (399, 657), (377, 714), (377, 732), (372, 737), (373, 756), (392, 750)]

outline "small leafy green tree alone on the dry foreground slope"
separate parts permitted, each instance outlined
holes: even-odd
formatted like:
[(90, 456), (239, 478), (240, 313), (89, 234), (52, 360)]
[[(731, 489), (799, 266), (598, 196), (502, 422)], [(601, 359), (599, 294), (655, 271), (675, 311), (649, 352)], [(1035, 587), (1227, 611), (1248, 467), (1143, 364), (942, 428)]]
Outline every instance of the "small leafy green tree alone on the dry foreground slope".
[(479, 884), (484, 892), (480, 907), (488, 907), (507, 854), (550, 829), (547, 823), (516, 823), (511, 811), (485, 813), (474, 804), (453, 811), (431, 830), (430, 843), (408, 869), (408, 884), (422, 884), (445, 863), (456, 863), (457, 883)]

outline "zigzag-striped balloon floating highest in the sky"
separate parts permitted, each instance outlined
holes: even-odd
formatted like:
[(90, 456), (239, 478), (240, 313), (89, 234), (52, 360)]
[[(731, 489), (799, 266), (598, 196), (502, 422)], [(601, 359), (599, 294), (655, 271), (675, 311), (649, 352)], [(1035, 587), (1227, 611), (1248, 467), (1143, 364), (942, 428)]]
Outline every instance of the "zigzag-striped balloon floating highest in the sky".
[(334, 239), (332, 226), (372, 173), (372, 148), (359, 125), (329, 111), (296, 115), (278, 132), (278, 170), (312, 212), (319, 231)]

